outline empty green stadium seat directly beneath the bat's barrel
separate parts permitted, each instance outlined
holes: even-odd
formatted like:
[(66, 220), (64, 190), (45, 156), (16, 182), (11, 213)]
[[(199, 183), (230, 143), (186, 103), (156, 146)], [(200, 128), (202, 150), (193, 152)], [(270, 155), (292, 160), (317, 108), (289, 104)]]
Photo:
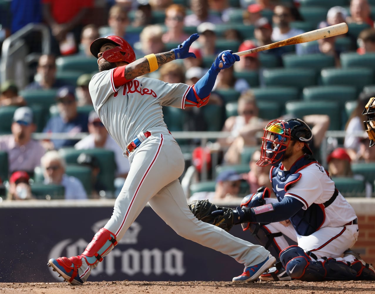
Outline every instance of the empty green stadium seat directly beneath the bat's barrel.
[(282, 56), (282, 61), (285, 68), (312, 68), (317, 75), (323, 68), (335, 66), (335, 57), (323, 53), (288, 53)]

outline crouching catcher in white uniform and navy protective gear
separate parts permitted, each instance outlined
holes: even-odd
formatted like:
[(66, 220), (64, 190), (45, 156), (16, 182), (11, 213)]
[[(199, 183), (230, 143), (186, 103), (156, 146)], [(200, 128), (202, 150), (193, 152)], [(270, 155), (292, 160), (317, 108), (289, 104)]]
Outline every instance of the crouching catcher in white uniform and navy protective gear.
[(372, 265), (350, 250), (359, 231), (356, 213), (312, 157), (308, 125), (301, 119), (275, 120), (264, 128), (262, 140), (257, 165), (272, 166), (276, 199), (261, 187), (236, 209), (193, 202), (195, 216), (225, 230), (241, 224), (279, 256), (261, 280), (375, 280)]

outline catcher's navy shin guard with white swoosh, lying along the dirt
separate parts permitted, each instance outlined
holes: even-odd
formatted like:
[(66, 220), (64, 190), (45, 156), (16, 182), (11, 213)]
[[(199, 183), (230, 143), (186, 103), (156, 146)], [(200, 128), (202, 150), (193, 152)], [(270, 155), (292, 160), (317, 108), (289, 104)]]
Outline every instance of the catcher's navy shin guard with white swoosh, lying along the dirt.
[(293, 279), (308, 282), (323, 280), (354, 280), (357, 272), (346, 262), (327, 258), (325, 261), (312, 261), (306, 252), (296, 245), (280, 253), (280, 261)]

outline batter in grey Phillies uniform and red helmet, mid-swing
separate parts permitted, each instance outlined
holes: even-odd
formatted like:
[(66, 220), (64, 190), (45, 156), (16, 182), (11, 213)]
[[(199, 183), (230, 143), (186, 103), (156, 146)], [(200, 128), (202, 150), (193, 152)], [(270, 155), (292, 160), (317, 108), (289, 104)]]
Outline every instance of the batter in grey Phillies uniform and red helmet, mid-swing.
[(184, 170), (183, 154), (163, 121), (162, 106), (185, 109), (207, 104), (218, 72), (232, 66), (239, 56), (223, 51), (192, 87), (140, 77), (174, 59), (195, 57), (189, 47), (198, 37), (193, 34), (176, 49), (138, 60), (130, 45), (117, 36), (99, 38), (91, 44), (99, 65), (99, 73), (89, 84), (93, 105), (129, 157), (130, 171), (111, 219), (86, 250), (79, 256), (49, 260), (48, 265), (69, 283), (82, 285), (87, 280), (91, 269), (116, 246), (147, 202), (177, 234), (244, 264), (245, 275), (234, 281), (256, 280), (275, 263), (276, 259), (263, 246), (201, 222), (191, 213), (178, 180)]

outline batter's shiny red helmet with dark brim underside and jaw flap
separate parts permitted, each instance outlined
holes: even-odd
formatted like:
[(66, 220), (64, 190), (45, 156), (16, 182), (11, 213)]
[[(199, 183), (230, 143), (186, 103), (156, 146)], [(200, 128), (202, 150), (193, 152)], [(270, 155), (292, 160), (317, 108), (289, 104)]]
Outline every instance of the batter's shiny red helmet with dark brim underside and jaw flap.
[(112, 43), (117, 45), (117, 47), (103, 52), (103, 58), (109, 62), (125, 61), (131, 63), (135, 61), (135, 53), (132, 46), (129, 45), (123, 38), (118, 36), (108, 36), (105, 38), (99, 38), (93, 41), (90, 45), (90, 51), (98, 58), (100, 48), (106, 44)]

